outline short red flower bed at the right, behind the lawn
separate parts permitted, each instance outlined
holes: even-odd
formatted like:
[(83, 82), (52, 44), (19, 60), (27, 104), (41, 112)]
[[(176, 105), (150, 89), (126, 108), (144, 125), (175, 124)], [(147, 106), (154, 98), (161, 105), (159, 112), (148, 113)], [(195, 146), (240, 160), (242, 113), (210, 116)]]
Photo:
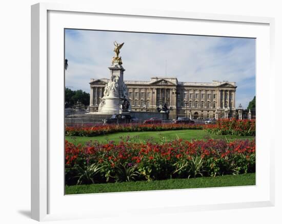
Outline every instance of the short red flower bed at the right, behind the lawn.
[(255, 120), (219, 119), (206, 129), (215, 135), (255, 136)]

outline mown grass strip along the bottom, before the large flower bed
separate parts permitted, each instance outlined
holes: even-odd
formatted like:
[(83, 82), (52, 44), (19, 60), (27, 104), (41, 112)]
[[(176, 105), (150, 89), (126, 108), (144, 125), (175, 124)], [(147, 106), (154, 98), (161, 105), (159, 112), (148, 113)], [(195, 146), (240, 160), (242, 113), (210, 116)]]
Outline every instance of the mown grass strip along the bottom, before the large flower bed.
[(149, 191), (168, 189), (231, 187), (255, 185), (255, 173), (197, 177), (190, 179), (170, 179), (164, 181), (137, 181), (108, 184), (66, 186), (65, 194), (107, 193), (126, 191)]

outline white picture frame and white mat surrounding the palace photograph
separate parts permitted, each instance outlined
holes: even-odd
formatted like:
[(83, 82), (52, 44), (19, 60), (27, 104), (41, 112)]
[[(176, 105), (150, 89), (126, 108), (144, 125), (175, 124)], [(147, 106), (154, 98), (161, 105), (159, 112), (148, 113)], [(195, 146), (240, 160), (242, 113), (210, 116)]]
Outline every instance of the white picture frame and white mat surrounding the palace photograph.
[[(75, 19), (72, 19), (74, 16)], [(96, 27), (93, 23), (91, 25), (89, 19), (95, 20), (99, 16), (101, 17), (100, 21), (103, 22)], [(62, 48), (64, 46), (62, 46), (62, 42), (64, 39), (61, 38), (62, 28), (110, 30), (113, 18), (115, 21), (120, 21), (116, 24), (116, 30), (120, 31), (153, 32), (156, 29), (154, 25), (151, 27), (146, 25), (150, 20), (150, 23), (158, 25), (158, 30), (155, 32), (179, 33), (179, 29), (184, 29), (184, 26), (180, 25), (187, 23), (191, 25), (191, 31), (189, 33), (186, 31), (186, 34), (257, 38), (256, 186), (64, 195), (62, 190), (64, 188), (62, 186), (64, 185), (62, 182), (64, 180), (64, 175), (62, 175), (64, 172), (62, 166), (64, 160), (62, 157), (64, 154), (62, 139), (64, 133), (62, 130), (64, 125), (62, 127), (59, 125), (64, 120), (62, 104), (64, 98), (64, 85), (62, 85), (64, 76)], [(133, 20), (134, 23), (129, 20)], [(141, 21), (142, 23), (140, 23)], [(172, 26), (173, 24), (179, 26)], [(138, 9), (117, 11), (114, 7), (99, 8), (97, 6), (40, 3), (31, 7), (31, 28), (31, 217), (33, 219), (43, 221), (107, 217), (109, 211), (112, 216), (115, 216), (128, 213), (138, 215), (141, 212), (157, 214), (274, 206), (274, 139), (266, 129), (274, 126), (274, 121), (261, 119), (266, 113), (264, 107), (267, 105), (274, 105), (267, 108), (275, 110), (274, 89), (271, 88), (274, 86), (273, 18)], [(56, 54), (54, 54), (54, 49), (57, 51)], [(265, 73), (268, 76), (263, 76)], [(54, 82), (56, 79), (58, 81)], [(59, 107), (61, 104), (62, 107)], [(54, 108), (62, 109), (54, 110)], [(58, 126), (55, 127), (54, 124)], [(60, 142), (61, 140), (62, 142)], [(57, 150), (59, 152), (56, 154), (57, 151), (53, 150), (54, 146), (58, 146), (62, 150)], [(198, 193), (203, 197), (199, 198)], [(208, 197), (208, 195), (219, 193), (223, 194), (223, 196), (219, 195), (221, 198)], [(232, 198), (225, 196), (231, 194)], [(239, 194), (245, 195), (246, 198), (240, 197)], [(189, 203), (188, 200), (179, 200), (185, 197), (189, 198)], [(97, 205), (81, 206), (87, 198), (95, 198), (98, 201)], [(127, 206), (124, 202), (120, 203), (120, 201), (130, 200), (130, 198), (138, 199), (139, 204)], [(150, 206), (146, 205), (148, 198), (152, 198)], [(112, 207), (107, 205), (108, 200), (113, 201)], [(71, 203), (78, 206), (74, 209), (76, 212), (69, 210), (67, 205)], [(118, 207), (116, 207), (117, 205)], [(62, 210), (63, 207), (66, 209)]]

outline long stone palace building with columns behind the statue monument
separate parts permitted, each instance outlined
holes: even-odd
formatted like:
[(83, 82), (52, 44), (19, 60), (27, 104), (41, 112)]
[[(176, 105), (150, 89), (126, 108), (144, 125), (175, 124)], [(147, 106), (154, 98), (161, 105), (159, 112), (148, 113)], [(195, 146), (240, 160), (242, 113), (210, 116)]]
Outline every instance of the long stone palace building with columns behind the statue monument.
[[(90, 111), (97, 111), (109, 79), (90, 80)], [(235, 117), (236, 83), (229, 81), (180, 82), (177, 78), (152, 77), (150, 81), (124, 81), (131, 111), (156, 111), (167, 105), (169, 118)]]

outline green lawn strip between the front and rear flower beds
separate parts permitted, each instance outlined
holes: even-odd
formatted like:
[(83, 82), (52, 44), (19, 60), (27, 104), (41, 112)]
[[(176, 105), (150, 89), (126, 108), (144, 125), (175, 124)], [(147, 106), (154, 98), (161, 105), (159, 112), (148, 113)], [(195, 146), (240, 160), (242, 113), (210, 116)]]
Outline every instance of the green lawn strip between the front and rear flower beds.
[(254, 139), (253, 136), (220, 136), (220, 135), (211, 135), (206, 130), (169, 130), (169, 131), (136, 131), (136, 132), (117, 132), (103, 136), (95, 136), (95, 137), (70, 137), (66, 136), (66, 140), (74, 144), (85, 144), (86, 142), (99, 141), (99, 142), (107, 142), (108, 140), (112, 140), (114, 142), (120, 141), (120, 137), (126, 138), (127, 136), (136, 137), (136, 141), (146, 141), (148, 139), (153, 139), (155, 142), (160, 141), (171, 141), (177, 138), (184, 140), (197, 140), (197, 139)]

